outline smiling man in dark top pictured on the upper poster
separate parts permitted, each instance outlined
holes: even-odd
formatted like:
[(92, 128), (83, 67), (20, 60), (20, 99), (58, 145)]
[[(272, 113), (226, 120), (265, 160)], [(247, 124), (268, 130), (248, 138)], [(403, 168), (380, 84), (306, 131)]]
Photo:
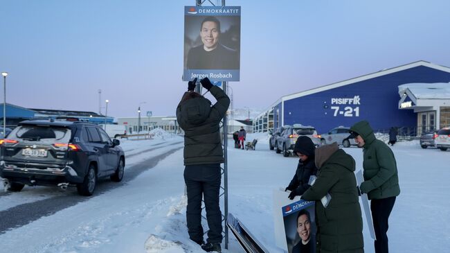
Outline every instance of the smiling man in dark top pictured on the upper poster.
[(190, 49), (188, 69), (239, 69), (237, 51), (219, 43), (220, 21), (208, 16), (201, 21), (200, 46)]

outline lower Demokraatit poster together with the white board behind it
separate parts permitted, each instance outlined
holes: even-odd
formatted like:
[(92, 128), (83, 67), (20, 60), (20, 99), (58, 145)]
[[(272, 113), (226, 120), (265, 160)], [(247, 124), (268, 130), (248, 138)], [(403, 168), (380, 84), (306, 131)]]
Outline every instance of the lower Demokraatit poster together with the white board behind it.
[[(274, 191), (276, 245), (288, 253), (316, 252), (316, 216), (314, 201), (289, 200), (289, 193)], [(286, 200), (289, 200), (287, 203)]]

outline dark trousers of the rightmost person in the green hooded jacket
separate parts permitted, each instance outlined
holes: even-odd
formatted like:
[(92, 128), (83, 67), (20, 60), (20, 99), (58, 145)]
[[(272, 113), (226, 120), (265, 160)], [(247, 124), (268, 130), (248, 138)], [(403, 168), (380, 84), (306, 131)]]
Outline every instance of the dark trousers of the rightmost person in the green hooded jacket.
[(370, 200), (373, 227), (375, 229), (375, 253), (388, 253), (388, 219), (395, 203), (395, 197)]

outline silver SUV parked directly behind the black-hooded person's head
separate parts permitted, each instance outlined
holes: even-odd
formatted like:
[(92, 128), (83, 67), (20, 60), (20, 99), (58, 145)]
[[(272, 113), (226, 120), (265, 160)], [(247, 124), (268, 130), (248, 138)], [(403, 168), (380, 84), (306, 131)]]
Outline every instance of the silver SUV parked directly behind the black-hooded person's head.
[(282, 151), (283, 156), (289, 157), (294, 152), (295, 143), (300, 135), (311, 138), (315, 146), (321, 144), (321, 137), (317, 134), (316, 128), (300, 124), (285, 125), (285, 130), (277, 139), (276, 152), (280, 153)]

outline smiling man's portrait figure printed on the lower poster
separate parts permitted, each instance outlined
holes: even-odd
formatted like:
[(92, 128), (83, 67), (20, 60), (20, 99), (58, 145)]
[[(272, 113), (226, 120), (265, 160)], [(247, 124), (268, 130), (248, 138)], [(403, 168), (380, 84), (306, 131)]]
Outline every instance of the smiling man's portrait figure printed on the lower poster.
[(297, 233), (300, 241), (292, 248), (291, 253), (316, 252), (316, 239), (311, 232), (311, 215), (307, 209), (301, 209), (297, 214)]

